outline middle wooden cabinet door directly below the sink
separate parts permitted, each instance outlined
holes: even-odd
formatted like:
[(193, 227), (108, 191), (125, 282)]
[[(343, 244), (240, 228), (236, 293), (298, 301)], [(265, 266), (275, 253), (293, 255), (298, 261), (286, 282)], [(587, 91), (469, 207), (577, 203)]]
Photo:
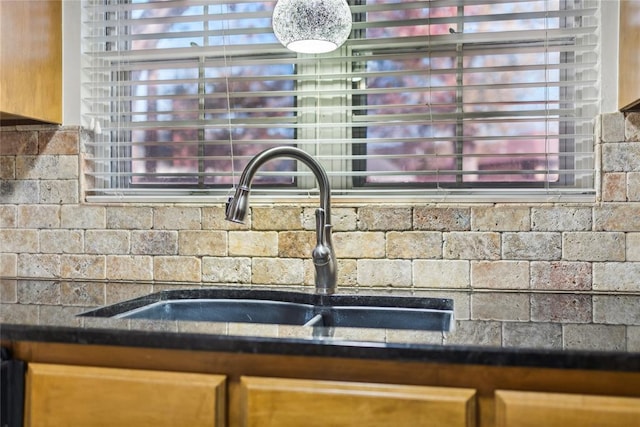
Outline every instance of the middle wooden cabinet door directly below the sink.
[(243, 427), (475, 426), (475, 390), (242, 377)]

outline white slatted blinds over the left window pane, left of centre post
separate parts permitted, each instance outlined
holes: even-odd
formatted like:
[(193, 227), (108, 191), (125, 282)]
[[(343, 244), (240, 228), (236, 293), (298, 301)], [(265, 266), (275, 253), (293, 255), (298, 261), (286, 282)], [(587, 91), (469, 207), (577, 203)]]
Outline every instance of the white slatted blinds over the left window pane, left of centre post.
[(295, 143), (295, 54), (275, 40), (273, 5), (92, 1), (88, 72), (110, 75), (88, 98), (110, 106), (89, 114), (103, 135), (89, 144), (97, 193), (228, 188), (251, 156)]

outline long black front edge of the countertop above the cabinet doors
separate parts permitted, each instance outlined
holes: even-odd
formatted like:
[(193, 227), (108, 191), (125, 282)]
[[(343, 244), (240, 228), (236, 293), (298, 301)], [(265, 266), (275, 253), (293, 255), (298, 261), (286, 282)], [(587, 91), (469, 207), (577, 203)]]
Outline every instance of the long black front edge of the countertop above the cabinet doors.
[(593, 350), (308, 340), (11, 323), (0, 324), (0, 339), (396, 362), (640, 372), (640, 353)]

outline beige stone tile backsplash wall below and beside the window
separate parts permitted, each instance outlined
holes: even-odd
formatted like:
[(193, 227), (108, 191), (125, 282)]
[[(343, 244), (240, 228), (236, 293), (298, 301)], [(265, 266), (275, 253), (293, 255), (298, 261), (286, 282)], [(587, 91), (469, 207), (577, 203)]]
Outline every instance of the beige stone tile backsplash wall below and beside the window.
[[(595, 129), (593, 204), (334, 206), (341, 288), (452, 296), (458, 319), (640, 325), (627, 296), (640, 292), (640, 114), (605, 114)], [(242, 226), (220, 204), (86, 204), (86, 137), (0, 130), (3, 302), (42, 298), (14, 277), (95, 280), (57, 297), (87, 306), (166, 282), (312, 286), (312, 205), (254, 207)]]

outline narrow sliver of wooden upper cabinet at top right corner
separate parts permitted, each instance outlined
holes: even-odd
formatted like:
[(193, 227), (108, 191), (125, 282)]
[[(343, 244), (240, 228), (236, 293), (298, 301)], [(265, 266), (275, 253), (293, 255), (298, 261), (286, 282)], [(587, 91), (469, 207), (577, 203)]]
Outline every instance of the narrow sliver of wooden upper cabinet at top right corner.
[(640, 0), (620, 2), (618, 105), (640, 111)]

